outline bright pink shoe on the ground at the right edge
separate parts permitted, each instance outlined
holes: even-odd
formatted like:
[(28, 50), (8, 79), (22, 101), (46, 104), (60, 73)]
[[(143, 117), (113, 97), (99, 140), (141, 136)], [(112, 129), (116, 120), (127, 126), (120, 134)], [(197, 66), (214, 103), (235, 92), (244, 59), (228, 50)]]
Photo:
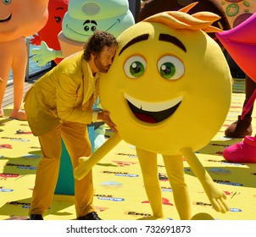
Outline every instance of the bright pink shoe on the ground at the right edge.
[(231, 163), (256, 163), (256, 137), (247, 135), (243, 141), (228, 146), (223, 157)]

